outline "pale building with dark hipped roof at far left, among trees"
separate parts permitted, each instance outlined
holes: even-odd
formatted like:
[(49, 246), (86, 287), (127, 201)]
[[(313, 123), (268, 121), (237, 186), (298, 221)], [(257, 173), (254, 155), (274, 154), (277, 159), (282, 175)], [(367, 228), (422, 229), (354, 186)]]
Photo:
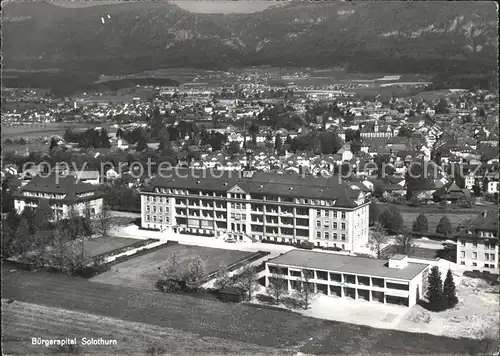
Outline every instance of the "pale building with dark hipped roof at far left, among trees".
[(14, 193), (14, 208), (21, 213), (25, 207), (36, 209), (41, 200), (47, 200), (53, 220), (65, 219), (70, 214), (99, 214), (103, 196), (95, 186), (80, 183), (73, 175), (36, 175)]

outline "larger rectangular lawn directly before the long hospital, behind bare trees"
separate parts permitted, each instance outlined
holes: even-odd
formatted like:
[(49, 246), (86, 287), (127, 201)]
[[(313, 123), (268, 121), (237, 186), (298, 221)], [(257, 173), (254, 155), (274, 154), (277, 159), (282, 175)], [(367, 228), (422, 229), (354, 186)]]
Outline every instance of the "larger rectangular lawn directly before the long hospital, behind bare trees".
[(204, 262), (206, 273), (215, 272), (221, 262), (229, 266), (252, 255), (251, 252), (246, 251), (221, 250), (181, 244), (171, 245), (118, 263), (112, 267), (111, 271), (94, 277), (92, 281), (155, 290), (155, 282), (160, 276), (160, 268), (165, 265), (168, 258), (174, 253), (184, 268), (187, 268), (191, 258), (200, 256)]

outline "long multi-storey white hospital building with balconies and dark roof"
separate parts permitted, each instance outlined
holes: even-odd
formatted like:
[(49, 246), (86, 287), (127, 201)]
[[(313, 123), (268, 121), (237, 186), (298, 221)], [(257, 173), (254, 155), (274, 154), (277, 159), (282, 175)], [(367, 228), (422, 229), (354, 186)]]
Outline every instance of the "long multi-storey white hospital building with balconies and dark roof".
[(369, 199), (337, 177), (210, 170), (162, 176), (141, 192), (143, 228), (350, 252), (368, 243)]

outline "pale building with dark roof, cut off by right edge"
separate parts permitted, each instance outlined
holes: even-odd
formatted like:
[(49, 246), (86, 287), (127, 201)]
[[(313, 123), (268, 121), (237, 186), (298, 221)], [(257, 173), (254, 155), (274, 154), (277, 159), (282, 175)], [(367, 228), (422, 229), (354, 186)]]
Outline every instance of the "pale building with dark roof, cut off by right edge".
[(498, 210), (483, 210), (457, 236), (457, 263), (468, 270), (499, 274)]

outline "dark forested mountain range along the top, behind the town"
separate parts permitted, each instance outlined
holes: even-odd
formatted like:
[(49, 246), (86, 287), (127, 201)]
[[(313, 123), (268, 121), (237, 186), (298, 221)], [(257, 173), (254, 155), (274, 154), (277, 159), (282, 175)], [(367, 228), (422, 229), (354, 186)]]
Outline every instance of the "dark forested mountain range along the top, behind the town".
[(251, 65), (437, 73), (497, 70), (493, 2), (292, 2), (199, 14), (166, 2), (3, 6), (3, 65), (128, 74)]

